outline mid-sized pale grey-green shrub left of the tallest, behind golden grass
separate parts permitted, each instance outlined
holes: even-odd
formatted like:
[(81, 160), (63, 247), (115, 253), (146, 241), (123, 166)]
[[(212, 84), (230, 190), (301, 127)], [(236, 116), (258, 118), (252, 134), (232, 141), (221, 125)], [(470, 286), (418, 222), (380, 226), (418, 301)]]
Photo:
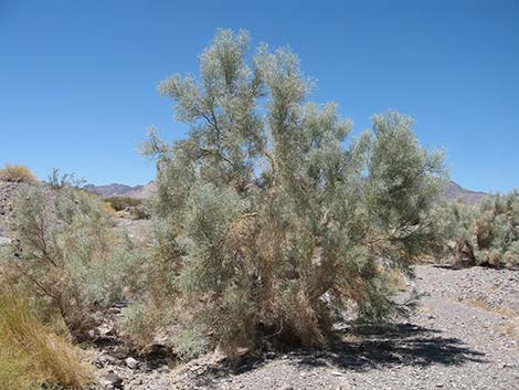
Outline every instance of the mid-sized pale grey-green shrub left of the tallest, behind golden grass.
[(3, 280), (32, 291), (75, 336), (93, 325), (92, 310), (138, 284), (144, 254), (112, 229), (97, 197), (74, 188), (34, 187), (20, 192), (15, 208), (11, 230), (18, 244), (3, 264)]

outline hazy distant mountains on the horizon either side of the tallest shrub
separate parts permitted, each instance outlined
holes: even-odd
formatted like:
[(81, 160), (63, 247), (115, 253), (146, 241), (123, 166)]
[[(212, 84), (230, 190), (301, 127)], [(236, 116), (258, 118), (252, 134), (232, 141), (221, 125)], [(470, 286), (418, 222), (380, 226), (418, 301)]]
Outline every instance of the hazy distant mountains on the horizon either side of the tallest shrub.
[[(94, 186), (87, 185), (85, 189), (99, 194), (103, 198), (110, 197), (129, 197), (136, 199), (146, 199), (152, 197), (157, 192), (157, 183), (150, 181), (146, 186), (126, 186), (119, 183)], [(479, 191), (470, 191), (463, 188), (454, 181), (448, 181), (442, 194), (442, 200), (456, 201), (460, 200), (467, 204), (476, 204), (488, 193)]]

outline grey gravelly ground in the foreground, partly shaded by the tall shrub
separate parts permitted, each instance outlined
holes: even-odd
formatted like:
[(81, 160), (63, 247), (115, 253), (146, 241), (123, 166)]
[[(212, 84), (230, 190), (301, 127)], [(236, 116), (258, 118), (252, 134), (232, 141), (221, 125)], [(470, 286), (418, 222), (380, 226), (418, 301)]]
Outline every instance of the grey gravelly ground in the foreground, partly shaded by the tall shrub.
[(174, 366), (98, 350), (98, 389), (519, 389), (519, 272), (416, 266), (422, 295), (410, 318), (384, 329), (348, 329), (328, 348), (246, 357), (218, 355)]

